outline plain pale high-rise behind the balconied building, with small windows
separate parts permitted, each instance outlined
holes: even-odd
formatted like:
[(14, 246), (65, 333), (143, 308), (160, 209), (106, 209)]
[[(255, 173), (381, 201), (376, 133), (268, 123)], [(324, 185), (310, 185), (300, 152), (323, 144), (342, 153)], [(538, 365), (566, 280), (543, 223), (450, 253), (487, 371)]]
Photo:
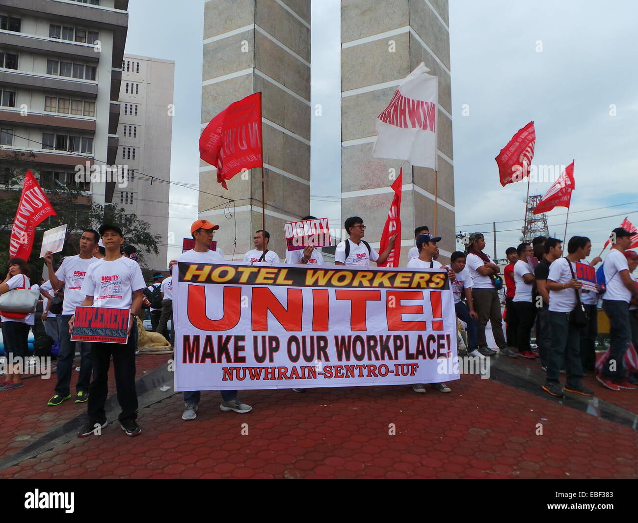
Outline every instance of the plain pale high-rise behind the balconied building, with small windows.
[[(125, 54), (121, 64), (117, 163), (126, 165), (126, 186), (113, 203), (151, 224), (159, 255), (144, 255), (150, 269), (167, 264), (168, 193), (175, 62)], [(141, 174), (144, 173), (144, 174)], [(176, 238), (175, 242), (181, 241)]]

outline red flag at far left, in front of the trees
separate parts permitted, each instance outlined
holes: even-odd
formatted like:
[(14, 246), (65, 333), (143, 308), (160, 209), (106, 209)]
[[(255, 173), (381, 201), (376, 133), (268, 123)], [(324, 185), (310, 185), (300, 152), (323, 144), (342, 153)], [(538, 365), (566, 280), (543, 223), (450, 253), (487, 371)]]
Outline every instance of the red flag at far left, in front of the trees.
[(22, 195), (18, 210), (13, 220), (11, 239), (9, 240), (9, 255), (12, 258), (28, 260), (33, 249), (33, 237), (36, 227), (49, 216), (56, 214), (42, 188), (33, 176), (33, 172), (27, 171), (22, 186)]

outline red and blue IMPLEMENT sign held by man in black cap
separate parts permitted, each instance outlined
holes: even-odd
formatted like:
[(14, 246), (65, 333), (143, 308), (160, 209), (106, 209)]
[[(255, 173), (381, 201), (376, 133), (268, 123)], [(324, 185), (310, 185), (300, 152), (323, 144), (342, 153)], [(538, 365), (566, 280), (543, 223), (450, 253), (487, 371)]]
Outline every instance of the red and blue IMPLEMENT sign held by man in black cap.
[(75, 307), (72, 342), (98, 342), (126, 344), (128, 308)]

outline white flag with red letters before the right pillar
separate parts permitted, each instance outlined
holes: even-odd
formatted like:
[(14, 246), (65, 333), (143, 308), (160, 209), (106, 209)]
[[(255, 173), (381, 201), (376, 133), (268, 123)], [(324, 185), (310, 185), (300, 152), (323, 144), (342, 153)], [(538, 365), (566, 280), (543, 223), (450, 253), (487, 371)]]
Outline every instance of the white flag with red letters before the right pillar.
[(436, 169), (438, 78), (428, 71), (420, 63), (377, 117), (375, 158), (408, 160), (412, 165)]

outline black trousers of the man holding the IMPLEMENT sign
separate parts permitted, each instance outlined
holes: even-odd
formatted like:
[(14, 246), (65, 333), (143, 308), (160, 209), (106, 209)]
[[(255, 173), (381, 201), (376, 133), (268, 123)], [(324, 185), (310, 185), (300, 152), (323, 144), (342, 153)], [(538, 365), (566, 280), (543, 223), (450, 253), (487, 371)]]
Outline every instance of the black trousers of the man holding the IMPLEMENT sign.
[[(133, 319), (131, 331), (137, 329)], [(115, 371), (115, 388), (117, 402), (122, 409), (119, 421), (135, 420), (137, 418), (137, 391), (135, 390), (135, 339), (131, 334), (127, 344), (93, 343), (91, 346), (93, 358), (93, 381), (89, 387), (88, 414), (91, 423), (107, 421), (105, 403), (108, 396), (108, 368), (113, 356), (113, 370)]]

